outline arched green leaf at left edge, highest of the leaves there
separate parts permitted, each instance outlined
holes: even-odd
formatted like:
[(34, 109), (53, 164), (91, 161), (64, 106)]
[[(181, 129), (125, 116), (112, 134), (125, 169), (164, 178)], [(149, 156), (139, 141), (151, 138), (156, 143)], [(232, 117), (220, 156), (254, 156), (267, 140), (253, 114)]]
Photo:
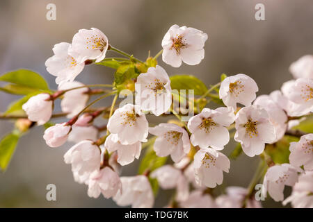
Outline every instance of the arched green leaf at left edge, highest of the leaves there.
[(10, 71), (3, 76), (0, 76), (0, 81), (13, 83), (24, 87), (31, 87), (34, 89), (49, 89), (46, 80), (42, 78), (42, 76), (28, 69)]

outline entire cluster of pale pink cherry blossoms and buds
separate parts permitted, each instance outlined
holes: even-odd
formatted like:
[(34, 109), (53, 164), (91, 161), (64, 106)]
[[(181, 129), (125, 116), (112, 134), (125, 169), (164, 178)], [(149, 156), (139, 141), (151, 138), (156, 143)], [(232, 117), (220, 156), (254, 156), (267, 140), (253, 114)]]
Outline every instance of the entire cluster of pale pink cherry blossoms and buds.
[[(171, 26), (161, 42), (163, 62), (172, 67), (180, 67), (182, 62), (198, 65), (204, 59), (207, 38), (198, 29)], [(261, 207), (243, 187), (228, 187), (226, 194), (218, 197), (210, 193), (223, 183), (223, 173), (230, 171), (230, 159), (223, 149), (234, 129), (234, 140), (241, 144), (243, 153), (248, 157), (264, 155), (266, 144), (280, 141), (300, 117), (313, 112), (313, 56), (304, 56), (291, 65), (295, 79), (284, 83), (281, 90), (257, 96), (257, 83), (248, 75), (227, 76), (219, 89), (215, 88), (225, 106), (198, 110), (188, 123), (172, 121), (157, 126), (150, 126), (147, 114), (158, 117), (177, 113), (172, 110), (166, 70), (159, 65), (147, 67), (136, 76), (135, 103), (117, 109), (113, 104), (103, 135), (94, 121), (106, 109), (83, 112), (91, 89), (75, 78), (85, 65), (104, 61), (110, 49), (108, 38), (97, 28), (81, 29), (72, 43), (56, 44), (54, 56), (45, 65), (56, 76), (58, 92), (35, 95), (23, 105), (29, 120), (42, 125), (51, 119), (54, 100), (62, 97), (61, 108), (70, 121), (47, 128), (43, 137), (50, 147), (76, 143), (65, 153), (64, 161), (71, 164), (74, 180), (88, 185), (88, 196), (102, 194), (120, 206), (152, 207), (150, 178), (154, 178), (162, 189), (176, 189), (173, 201), (180, 207)], [(139, 159), (149, 137), (154, 138), (155, 154), (170, 156), (173, 164), (136, 176), (120, 176), (122, 166)], [(268, 192), (274, 200), (282, 201), (284, 185), (289, 185), (294, 191), (284, 203), (313, 207), (313, 134), (291, 142), (290, 152), (289, 163), (269, 163), (264, 196)]]

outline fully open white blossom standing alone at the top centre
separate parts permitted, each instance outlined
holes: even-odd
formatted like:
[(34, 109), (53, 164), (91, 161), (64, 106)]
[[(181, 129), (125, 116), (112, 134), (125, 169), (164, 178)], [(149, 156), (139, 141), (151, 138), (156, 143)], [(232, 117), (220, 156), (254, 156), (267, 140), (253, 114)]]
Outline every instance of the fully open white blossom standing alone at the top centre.
[(204, 42), (207, 34), (186, 26), (170, 27), (162, 40), (162, 59), (172, 67), (180, 67), (182, 61), (188, 65), (198, 65), (204, 58)]

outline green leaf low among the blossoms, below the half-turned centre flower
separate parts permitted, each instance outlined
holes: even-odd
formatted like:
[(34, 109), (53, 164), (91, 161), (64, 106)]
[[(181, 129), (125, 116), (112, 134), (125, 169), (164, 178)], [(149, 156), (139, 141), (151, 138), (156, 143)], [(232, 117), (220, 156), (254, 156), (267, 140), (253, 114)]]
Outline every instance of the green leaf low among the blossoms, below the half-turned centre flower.
[(138, 174), (143, 174), (146, 170), (154, 171), (154, 169), (162, 167), (166, 163), (166, 160), (167, 157), (158, 157), (153, 150), (153, 146), (150, 146), (145, 151), (143, 160), (141, 160)]

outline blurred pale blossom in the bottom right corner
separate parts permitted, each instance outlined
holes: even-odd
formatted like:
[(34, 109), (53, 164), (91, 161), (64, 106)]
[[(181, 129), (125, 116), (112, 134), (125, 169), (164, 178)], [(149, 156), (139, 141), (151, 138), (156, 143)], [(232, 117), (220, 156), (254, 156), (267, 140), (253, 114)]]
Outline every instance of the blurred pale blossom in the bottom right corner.
[(291, 196), (282, 204), (291, 203), (295, 208), (313, 208), (313, 171), (301, 173), (298, 182), (292, 188)]

